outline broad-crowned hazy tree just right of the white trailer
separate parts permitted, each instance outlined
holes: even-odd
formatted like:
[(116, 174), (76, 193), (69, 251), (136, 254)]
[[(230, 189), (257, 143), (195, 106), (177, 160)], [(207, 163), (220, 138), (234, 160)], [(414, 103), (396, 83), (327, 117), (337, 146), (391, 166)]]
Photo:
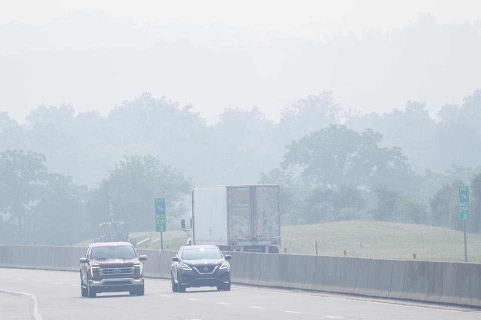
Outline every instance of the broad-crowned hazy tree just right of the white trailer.
[(406, 187), (411, 177), (407, 159), (397, 148), (380, 147), (381, 139), (370, 129), (358, 134), (331, 124), (288, 145), (281, 167), (298, 172), (304, 183), (312, 185)]

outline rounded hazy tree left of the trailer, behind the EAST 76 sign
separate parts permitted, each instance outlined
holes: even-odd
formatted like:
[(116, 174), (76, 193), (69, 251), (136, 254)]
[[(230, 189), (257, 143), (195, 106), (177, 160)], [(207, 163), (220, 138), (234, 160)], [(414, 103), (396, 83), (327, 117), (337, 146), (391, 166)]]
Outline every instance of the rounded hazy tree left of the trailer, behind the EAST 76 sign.
[(126, 156), (91, 194), (89, 211), (93, 227), (108, 221), (109, 200), (112, 200), (115, 220), (129, 222), (132, 230), (152, 230), (154, 198), (165, 198), (167, 219), (172, 221), (185, 214), (182, 200), (191, 187), (190, 177), (162, 164), (160, 157)]

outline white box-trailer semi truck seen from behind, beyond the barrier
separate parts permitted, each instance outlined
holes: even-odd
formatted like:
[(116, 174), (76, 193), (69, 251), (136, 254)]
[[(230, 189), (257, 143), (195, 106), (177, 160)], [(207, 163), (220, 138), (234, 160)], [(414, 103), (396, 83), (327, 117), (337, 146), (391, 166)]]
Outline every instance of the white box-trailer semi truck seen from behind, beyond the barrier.
[(279, 184), (194, 187), (191, 214), (188, 244), (279, 253)]

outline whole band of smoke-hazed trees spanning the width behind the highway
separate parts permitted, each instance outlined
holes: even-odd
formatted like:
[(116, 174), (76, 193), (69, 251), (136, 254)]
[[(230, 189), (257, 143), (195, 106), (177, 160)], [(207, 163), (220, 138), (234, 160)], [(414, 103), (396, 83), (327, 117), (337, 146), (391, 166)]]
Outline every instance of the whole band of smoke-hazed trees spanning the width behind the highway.
[(346, 219), (460, 228), (457, 186), (470, 185), (479, 231), (481, 90), (437, 118), (424, 103), (361, 114), (331, 92), (287, 106), (279, 121), (259, 108), (226, 108), (213, 125), (149, 93), (107, 115), (41, 105), (22, 124), (0, 112), (0, 241), (94, 237), (107, 220), (153, 228), (152, 199), (188, 214), (193, 185), (280, 183), (283, 223)]

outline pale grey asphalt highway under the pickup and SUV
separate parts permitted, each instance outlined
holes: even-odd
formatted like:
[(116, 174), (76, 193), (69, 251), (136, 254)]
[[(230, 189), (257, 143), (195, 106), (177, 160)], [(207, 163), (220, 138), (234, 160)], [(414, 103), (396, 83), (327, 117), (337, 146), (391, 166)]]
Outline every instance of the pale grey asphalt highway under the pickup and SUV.
[(145, 280), (128, 292), (81, 297), (80, 272), (0, 268), (0, 319), (480, 319), (481, 309), (232, 284), (230, 291)]

